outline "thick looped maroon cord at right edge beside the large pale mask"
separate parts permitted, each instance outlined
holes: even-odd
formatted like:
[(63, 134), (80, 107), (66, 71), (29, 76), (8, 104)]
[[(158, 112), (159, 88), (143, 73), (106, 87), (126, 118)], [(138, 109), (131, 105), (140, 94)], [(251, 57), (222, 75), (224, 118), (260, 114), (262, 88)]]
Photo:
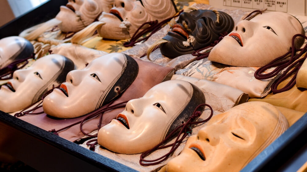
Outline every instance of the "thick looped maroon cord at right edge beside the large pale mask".
[[(282, 71), (283, 69), (288, 67), (281, 74), (281, 76), (277, 80), (275, 80), (274, 83), (272, 84), (271, 90), (272, 90), (273, 94), (288, 91), (296, 84), (297, 72), (301, 68), (305, 59), (307, 58), (307, 54), (305, 54), (305, 56), (303, 58), (300, 58), (304, 53), (307, 52), (307, 44), (303, 48), (296, 48), (295, 47), (294, 39), (298, 36), (301, 36), (301, 37), (307, 39), (307, 37), (305, 35), (302, 35), (302, 34), (294, 35), (293, 38), (292, 38), (292, 47), (290, 47), (290, 50), (286, 54), (284, 54), (284, 55), (274, 59), (270, 63), (260, 67), (259, 69), (256, 70), (256, 72), (254, 74), (256, 79), (265, 80), (265, 79), (269, 79), (269, 78), (277, 76), (280, 71)], [(300, 53), (296, 54), (298, 51), (300, 51)], [(287, 59), (285, 61), (281, 61), (283, 58), (285, 58), (289, 54), (291, 54), (291, 57), (289, 59)], [(300, 58), (300, 59), (297, 60), (298, 58)], [(267, 69), (270, 69), (271, 67), (274, 67), (274, 66), (277, 66), (277, 67), (272, 72), (262, 74), (264, 71), (266, 71)], [(290, 71), (290, 69), (292, 69), (292, 70)], [(286, 86), (284, 86), (283, 88), (277, 89), (278, 85), (282, 81), (284, 81), (288, 77), (290, 77), (291, 75), (293, 75), (293, 77), (289, 81), (289, 83), (286, 84)]]

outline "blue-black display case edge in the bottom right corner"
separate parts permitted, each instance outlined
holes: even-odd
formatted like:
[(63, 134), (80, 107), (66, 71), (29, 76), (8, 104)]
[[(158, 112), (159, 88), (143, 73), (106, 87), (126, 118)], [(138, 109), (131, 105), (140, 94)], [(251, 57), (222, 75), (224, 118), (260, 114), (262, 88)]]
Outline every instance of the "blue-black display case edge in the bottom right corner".
[[(247, 164), (241, 172), (285, 171), (286, 169), (286, 171), (290, 169), (290, 171), (297, 171), (306, 162), (306, 153), (307, 113)], [(298, 159), (303, 159), (301, 164), (295, 164)]]

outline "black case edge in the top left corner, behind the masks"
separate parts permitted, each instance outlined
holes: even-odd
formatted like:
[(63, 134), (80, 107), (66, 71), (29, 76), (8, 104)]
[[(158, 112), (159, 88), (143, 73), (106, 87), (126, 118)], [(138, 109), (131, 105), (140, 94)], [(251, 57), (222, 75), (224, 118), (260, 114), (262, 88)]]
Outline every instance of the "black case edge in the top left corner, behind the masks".
[(65, 5), (68, 0), (49, 0), (7, 24), (0, 27), (0, 39), (8, 36), (18, 36), (20, 32), (36, 24), (48, 21), (60, 11), (60, 6)]

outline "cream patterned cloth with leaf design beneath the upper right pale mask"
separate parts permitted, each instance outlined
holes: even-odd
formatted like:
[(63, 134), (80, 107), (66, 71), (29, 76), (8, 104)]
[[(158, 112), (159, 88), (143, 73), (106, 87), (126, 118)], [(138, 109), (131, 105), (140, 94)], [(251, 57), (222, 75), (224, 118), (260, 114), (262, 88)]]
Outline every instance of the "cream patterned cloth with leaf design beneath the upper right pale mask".
[[(184, 69), (176, 71), (176, 74), (211, 80), (242, 90), (250, 97), (264, 97), (270, 92), (274, 79), (257, 80), (254, 77), (258, 67), (236, 67), (211, 62), (208, 58), (190, 63)], [(267, 70), (272, 71), (274, 68)]]

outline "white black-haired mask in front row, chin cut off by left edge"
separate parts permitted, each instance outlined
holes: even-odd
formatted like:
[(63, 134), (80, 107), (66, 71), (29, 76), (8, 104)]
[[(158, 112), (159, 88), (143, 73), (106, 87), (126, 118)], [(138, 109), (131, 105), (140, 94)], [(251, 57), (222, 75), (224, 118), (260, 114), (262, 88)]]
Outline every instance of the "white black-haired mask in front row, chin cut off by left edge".
[(0, 89), (0, 110), (15, 112), (41, 99), (47, 91), (64, 82), (74, 63), (61, 55), (51, 54), (39, 58), (27, 69), (13, 73), (13, 79)]

